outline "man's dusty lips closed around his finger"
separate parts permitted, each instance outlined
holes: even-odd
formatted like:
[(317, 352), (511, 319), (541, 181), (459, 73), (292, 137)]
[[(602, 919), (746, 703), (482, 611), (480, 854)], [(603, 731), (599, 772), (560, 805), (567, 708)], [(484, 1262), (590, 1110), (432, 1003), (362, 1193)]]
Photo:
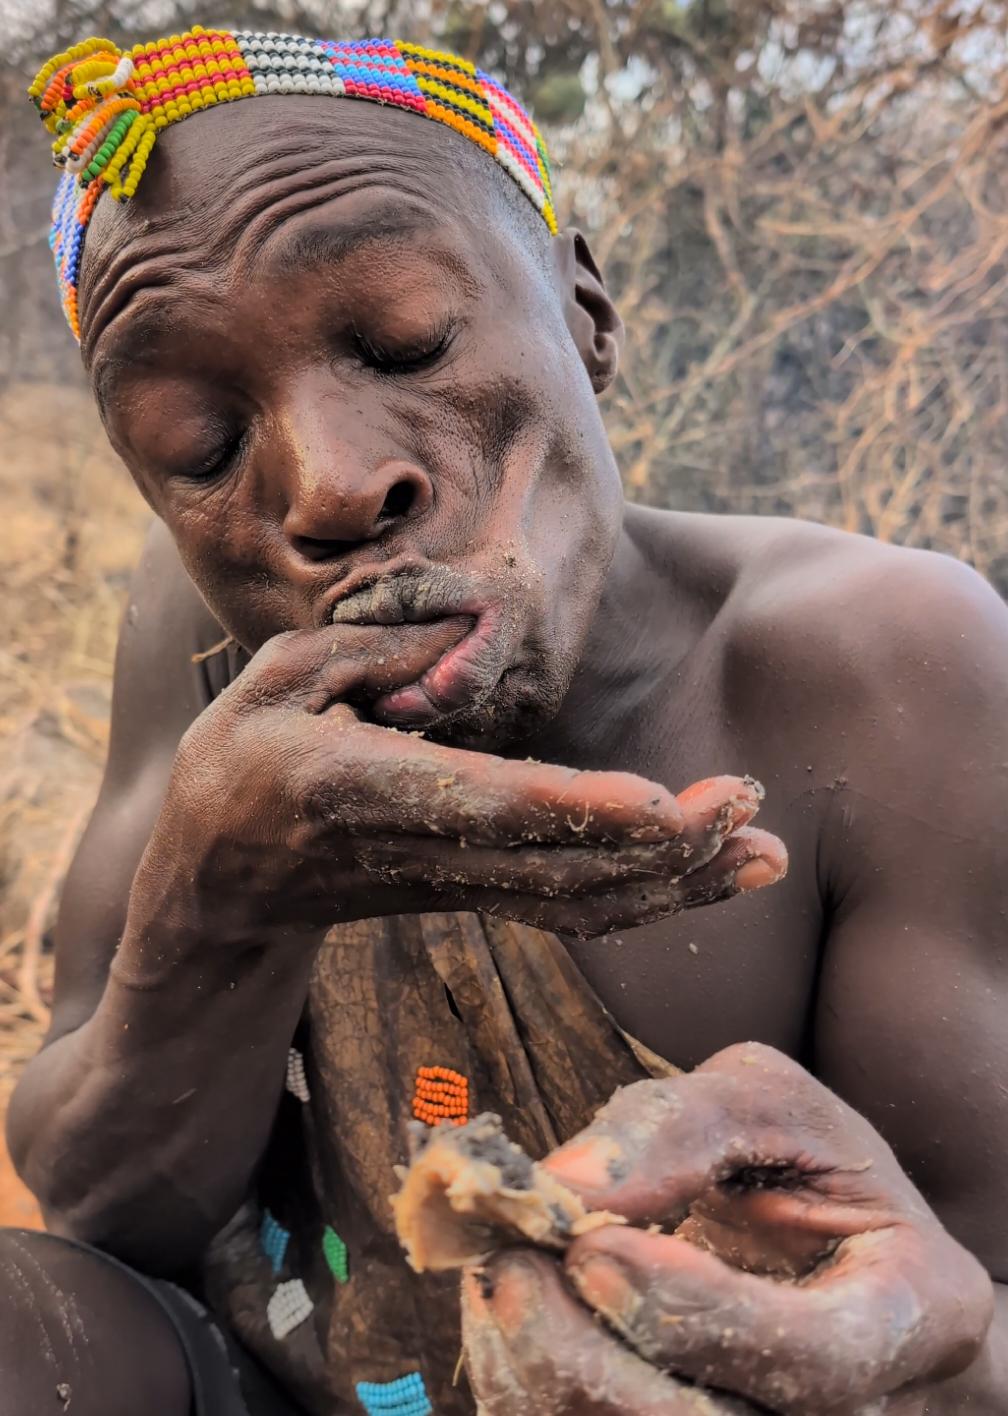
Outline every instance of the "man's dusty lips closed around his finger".
[(415, 683), (371, 704), (389, 726), (429, 726), (490, 697), (507, 668), (504, 615), (498, 605), (445, 566), (408, 569), (371, 579), (343, 595), (333, 624), (432, 624), (452, 622), (469, 630), (456, 637)]

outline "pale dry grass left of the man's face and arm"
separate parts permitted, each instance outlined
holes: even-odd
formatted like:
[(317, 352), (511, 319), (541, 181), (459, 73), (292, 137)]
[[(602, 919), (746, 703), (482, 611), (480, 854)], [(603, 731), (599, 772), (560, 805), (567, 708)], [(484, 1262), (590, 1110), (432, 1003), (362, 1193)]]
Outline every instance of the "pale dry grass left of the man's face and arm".
[[(68, 426), (72, 440), (57, 433)], [(149, 514), (82, 392), (16, 385), (0, 396), (0, 435), (1, 1110), (47, 1022), (45, 933), (98, 787), (116, 627)]]

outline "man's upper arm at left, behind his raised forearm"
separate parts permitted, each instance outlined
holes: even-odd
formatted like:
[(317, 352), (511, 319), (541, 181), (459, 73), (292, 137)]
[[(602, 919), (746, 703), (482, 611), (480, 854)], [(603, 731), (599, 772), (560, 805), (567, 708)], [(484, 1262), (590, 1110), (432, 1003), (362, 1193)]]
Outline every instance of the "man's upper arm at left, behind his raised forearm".
[(168, 532), (154, 523), (133, 575), (116, 649), (102, 787), (62, 889), (47, 1041), (86, 1021), (102, 995), (176, 749), (212, 697), (207, 673), (193, 663), (193, 654), (219, 637)]

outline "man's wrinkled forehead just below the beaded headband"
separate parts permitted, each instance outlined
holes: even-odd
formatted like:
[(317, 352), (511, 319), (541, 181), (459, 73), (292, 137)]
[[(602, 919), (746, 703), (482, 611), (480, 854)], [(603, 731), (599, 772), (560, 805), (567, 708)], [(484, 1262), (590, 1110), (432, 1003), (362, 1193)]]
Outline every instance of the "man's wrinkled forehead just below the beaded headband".
[(372, 103), (285, 95), (194, 115), (161, 135), (132, 202), (95, 210), (85, 360), (126, 304), (224, 269), (248, 275), (263, 255), (293, 269), (382, 241), (454, 261), (460, 279), (500, 261), (501, 244), (514, 258), (529, 234), (508, 181), (450, 129)]

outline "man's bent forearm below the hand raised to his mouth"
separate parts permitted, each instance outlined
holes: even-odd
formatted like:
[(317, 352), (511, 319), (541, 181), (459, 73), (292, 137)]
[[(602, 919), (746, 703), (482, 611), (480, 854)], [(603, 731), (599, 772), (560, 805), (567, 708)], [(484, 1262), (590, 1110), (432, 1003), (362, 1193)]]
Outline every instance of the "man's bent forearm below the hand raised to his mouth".
[(195, 1259), (244, 1198), (317, 949), (167, 903), (132, 910), (98, 1010), (30, 1065), (10, 1117), (50, 1228), (149, 1272)]

